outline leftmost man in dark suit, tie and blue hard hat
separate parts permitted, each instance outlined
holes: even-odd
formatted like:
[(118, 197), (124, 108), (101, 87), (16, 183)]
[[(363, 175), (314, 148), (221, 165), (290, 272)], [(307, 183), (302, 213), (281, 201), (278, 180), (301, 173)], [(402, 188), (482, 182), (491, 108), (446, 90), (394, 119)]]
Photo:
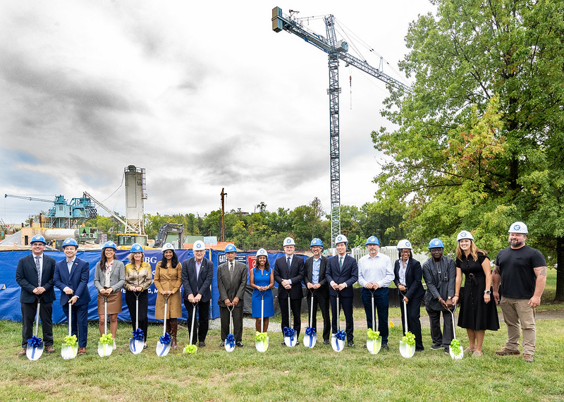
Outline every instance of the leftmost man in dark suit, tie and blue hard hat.
[(18, 356), (25, 356), (27, 339), (33, 335), (33, 322), (37, 312), (37, 300), (41, 301), (39, 317), (43, 329), (43, 342), (47, 353), (54, 353), (53, 347), (53, 300), (55, 300), (53, 275), (55, 260), (43, 254), (47, 242), (41, 235), (31, 238), (31, 254), (20, 258), (16, 268), (16, 282), (22, 288), (22, 348)]

